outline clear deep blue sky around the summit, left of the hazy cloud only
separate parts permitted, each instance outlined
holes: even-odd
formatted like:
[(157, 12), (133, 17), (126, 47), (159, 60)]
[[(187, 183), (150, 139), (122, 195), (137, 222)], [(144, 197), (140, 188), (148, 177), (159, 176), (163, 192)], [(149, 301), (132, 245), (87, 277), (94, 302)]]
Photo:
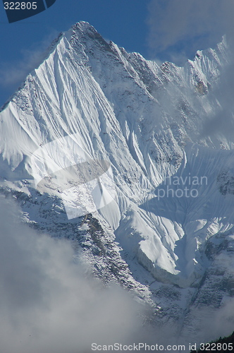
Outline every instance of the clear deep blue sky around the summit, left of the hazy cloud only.
[(147, 53), (147, 0), (57, 0), (36, 16), (9, 24), (0, 4), (0, 105), (36, 63), (58, 32), (86, 20), (108, 40), (130, 52)]

